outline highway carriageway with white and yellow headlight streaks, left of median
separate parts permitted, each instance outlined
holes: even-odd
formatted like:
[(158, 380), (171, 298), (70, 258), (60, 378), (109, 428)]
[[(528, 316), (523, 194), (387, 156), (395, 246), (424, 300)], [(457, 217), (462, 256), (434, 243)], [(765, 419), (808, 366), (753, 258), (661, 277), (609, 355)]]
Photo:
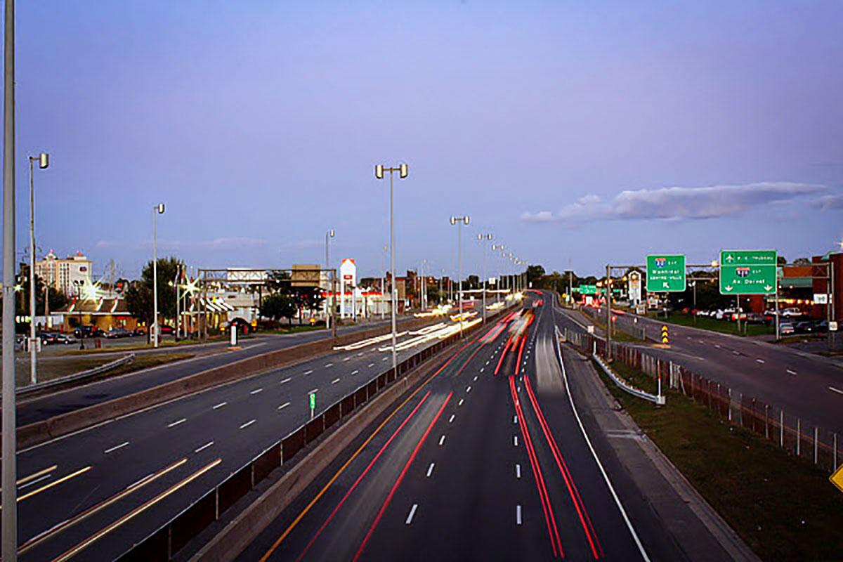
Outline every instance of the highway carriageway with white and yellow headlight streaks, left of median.
[[(431, 343), (400, 351), (399, 361)], [(114, 559), (309, 420), (310, 392), (318, 414), (388, 370), (382, 345), (338, 350), (19, 452), (22, 559)]]

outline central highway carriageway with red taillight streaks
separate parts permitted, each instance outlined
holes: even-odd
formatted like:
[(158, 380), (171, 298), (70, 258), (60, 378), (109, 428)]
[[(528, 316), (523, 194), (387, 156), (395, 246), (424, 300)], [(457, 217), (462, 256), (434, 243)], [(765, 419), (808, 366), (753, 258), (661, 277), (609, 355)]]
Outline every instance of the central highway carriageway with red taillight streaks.
[(491, 326), (388, 410), (240, 559), (686, 559), (598, 462), (540, 302), (523, 338)]

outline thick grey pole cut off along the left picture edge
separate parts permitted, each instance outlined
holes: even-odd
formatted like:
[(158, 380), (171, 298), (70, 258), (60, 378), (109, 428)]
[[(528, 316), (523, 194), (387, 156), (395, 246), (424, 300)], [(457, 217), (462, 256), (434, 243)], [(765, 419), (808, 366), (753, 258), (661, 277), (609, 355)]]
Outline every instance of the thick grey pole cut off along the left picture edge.
[(3, 35), (3, 559), (18, 559), (17, 420), (14, 388), (14, 0)]

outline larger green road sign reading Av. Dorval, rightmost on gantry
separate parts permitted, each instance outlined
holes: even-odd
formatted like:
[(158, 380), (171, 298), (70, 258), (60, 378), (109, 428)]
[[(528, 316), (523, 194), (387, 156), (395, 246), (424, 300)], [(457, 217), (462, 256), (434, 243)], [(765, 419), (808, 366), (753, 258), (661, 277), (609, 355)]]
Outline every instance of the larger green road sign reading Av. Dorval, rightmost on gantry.
[(774, 249), (720, 252), (721, 295), (770, 295), (776, 292), (778, 255)]

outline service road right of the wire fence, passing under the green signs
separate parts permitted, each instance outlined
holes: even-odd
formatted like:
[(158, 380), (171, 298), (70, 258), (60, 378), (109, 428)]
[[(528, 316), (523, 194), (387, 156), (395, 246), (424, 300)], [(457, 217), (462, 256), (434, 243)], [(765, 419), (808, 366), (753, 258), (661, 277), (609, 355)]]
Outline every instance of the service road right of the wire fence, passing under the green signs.
[[(566, 318), (567, 328), (584, 330), (582, 315), (563, 309), (559, 313)], [(652, 335), (660, 334), (663, 325), (656, 319), (631, 314), (618, 315), (617, 322), (621, 326), (644, 325)], [(788, 415), (843, 432), (843, 361), (752, 338), (668, 326), (669, 349), (644, 342), (631, 345), (782, 408)]]

